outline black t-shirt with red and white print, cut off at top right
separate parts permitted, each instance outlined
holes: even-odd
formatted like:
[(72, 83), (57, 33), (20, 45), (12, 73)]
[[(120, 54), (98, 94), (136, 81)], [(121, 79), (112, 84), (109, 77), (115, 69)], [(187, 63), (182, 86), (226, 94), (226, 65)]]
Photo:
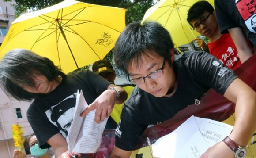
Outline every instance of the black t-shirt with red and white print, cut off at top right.
[(221, 33), (240, 27), (256, 51), (256, 2), (254, 0), (214, 0)]

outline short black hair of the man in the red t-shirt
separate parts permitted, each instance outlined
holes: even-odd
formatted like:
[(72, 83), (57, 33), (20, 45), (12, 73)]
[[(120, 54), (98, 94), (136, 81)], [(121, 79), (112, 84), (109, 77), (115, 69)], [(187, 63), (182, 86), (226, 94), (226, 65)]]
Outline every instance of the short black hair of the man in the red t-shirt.
[[(188, 10), (187, 21), (191, 25), (191, 21), (197, 18), (200, 18), (203, 15), (203, 12), (207, 11), (208, 13), (213, 13), (214, 8), (206, 0), (201, 0), (193, 4)], [(192, 26), (192, 25), (191, 25)], [(193, 26), (192, 26), (193, 27)]]

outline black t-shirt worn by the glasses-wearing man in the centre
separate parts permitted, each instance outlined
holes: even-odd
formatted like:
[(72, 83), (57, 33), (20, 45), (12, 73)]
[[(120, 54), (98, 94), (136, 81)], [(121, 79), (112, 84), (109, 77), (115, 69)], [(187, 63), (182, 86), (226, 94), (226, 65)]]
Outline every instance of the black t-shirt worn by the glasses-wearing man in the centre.
[(185, 52), (175, 56), (173, 69), (177, 89), (171, 97), (154, 97), (135, 87), (116, 129), (116, 146), (131, 151), (144, 129), (173, 117), (178, 111), (201, 99), (209, 88), (224, 94), (237, 77), (230, 68), (206, 52)]

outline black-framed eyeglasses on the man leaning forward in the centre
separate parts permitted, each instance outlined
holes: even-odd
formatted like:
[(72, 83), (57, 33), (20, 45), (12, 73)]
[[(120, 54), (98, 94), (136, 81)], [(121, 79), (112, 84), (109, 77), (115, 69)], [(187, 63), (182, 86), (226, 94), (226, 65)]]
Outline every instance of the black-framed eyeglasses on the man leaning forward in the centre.
[(129, 77), (129, 81), (131, 83), (134, 83), (134, 84), (138, 85), (138, 84), (145, 83), (145, 78), (157, 79), (158, 77), (160, 77), (164, 74), (163, 69), (165, 68), (165, 63), (166, 63), (166, 61), (164, 60), (162, 68), (159, 68), (158, 70), (148, 74), (147, 76), (139, 77), (139, 78), (136, 78), (136, 79), (130, 79), (130, 77)]

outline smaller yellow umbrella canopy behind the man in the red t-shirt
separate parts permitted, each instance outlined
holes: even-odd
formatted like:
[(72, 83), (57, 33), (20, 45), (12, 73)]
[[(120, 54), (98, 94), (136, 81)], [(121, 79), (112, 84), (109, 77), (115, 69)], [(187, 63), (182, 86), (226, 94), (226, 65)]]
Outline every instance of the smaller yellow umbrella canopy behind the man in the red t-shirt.
[[(160, 0), (145, 13), (142, 22), (157, 21), (172, 36), (174, 45), (190, 43), (199, 33), (187, 22), (188, 9), (199, 0)], [(207, 0), (214, 6), (214, 0)]]

